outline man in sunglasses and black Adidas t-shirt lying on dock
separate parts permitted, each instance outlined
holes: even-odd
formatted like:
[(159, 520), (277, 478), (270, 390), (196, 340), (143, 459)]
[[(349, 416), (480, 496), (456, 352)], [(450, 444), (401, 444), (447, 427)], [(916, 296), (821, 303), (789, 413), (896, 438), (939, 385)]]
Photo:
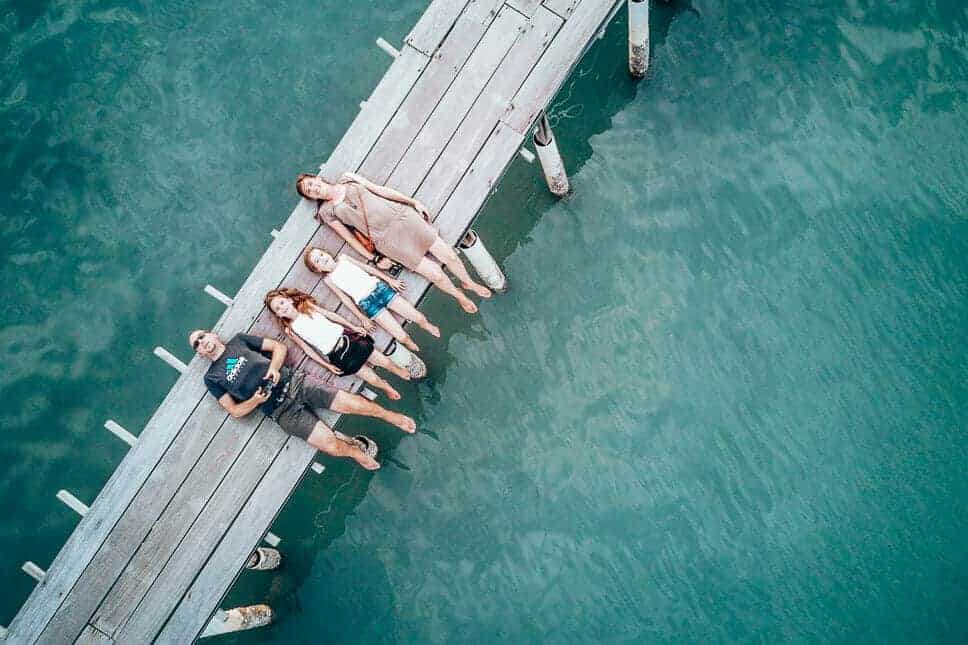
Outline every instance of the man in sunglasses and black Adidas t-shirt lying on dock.
[(233, 417), (241, 419), (258, 408), (288, 434), (328, 455), (355, 459), (367, 470), (376, 470), (380, 464), (358, 446), (340, 440), (320, 420), (318, 410), (376, 417), (404, 432), (416, 430), (408, 416), (285, 367), (288, 350), (279, 341), (236, 334), (224, 343), (217, 334), (196, 329), (189, 334), (188, 343), (212, 361), (205, 373), (205, 387)]

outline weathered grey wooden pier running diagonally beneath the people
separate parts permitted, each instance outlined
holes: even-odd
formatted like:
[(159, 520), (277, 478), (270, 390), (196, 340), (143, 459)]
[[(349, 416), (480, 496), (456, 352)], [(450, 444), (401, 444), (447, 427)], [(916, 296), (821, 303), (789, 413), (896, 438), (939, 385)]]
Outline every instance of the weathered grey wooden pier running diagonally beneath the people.
[[(545, 107), (624, 4), (434, 0), (399, 50), (381, 43), (393, 57), (389, 70), (321, 175), (334, 181), (356, 171), (415, 195), (437, 213), (444, 239), (457, 244)], [(313, 212), (305, 200), (296, 206), (234, 298), (209, 290), (227, 306), (214, 326), (223, 338), (243, 330), (278, 336), (262, 299), (280, 285), (336, 307), (301, 261), (307, 244), (334, 254), (343, 249)], [(407, 297), (418, 300), (427, 283), (402, 277)], [(389, 338), (381, 333), (378, 340), (385, 345)], [(290, 348), (294, 360), (303, 360)], [(189, 353), (185, 345), (174, 349)], [(47, 570), (32, 570), (40, 581), (8, 641), (198, 638), (313, 463), (308, 444), (261, 414), (228, 416), (202, 383), (207, 360), (171, 364), (181, 375), (139, 436), (132, 439), (117, 424), (109, 428), (133, 443), (97, 499), (88, 508), (63, 498), (82, 518)]]

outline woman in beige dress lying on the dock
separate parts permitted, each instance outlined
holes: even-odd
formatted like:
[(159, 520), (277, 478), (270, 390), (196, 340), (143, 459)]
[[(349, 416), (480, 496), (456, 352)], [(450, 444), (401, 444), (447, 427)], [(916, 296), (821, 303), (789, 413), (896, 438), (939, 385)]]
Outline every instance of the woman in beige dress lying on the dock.
[(430, 225), (427, 207), (416, 199), (355, 173), (344, 173), (336, 184), (303, 173), (296, 178), (296, 191), (316, 200), (317, 219), (367, 260), (390, 258), (456, 298), (464, 311), (475, 313), (477, 305), (454, 286), (437, 262), (426, 257), (429, 253), (460, 279), (464, 289), (482, 298), (491, 297), (490, 289), (471, 279), (457, 251)]

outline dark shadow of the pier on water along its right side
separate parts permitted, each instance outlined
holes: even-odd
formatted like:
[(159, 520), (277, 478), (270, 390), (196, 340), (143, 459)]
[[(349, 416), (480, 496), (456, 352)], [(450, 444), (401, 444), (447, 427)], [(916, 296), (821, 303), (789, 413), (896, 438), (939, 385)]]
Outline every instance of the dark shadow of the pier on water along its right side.
[[(656, 57), (661, 59), (668, 34), (674, 28), (677, 17), (682, 14), (698, 16), (689, 2), (655, 5), (651, 16), (653, 65)], [(566, 168), (571, 175), (577, 174), (591, 158), (593, 150), (589, 140), (609, 129), (612, 118), (634, 101), (639, 92), (648, 90), (648, 78), (636, 81), (628, 74), (626, 28), (625, 13), (620, 11), (605, 37), (593, 44), (548, 110)], [(586, 109), (586, 103), (591, 102), (594, 105)], [(528, 147), (532, 147), (530, 142)], [(502, 179), (500, 188), (482, 209), (475, 229), (481, 233), (498, 263), (503, 264), (518, 248), (531, 242), (531, 231), (558, 203), (559, 200), (547, 191), (538, 163), (532, 165), (516, 158)], [(513, 297), (514, 276), (508, 277), (511, 291), (508, 295), (496, 296), (497, 299)], [(422, 348), (421, 355), (430, 366), (431, 373), (421, 383), (395, 384), (404, 398), (400, 404), (390, 407), (413, 416), (417, 420), (418, 433), (439, 442), (445, 439), (434, 428), (426, 427), (423, 423), (429, 416), (429, 410), (441, 400), (449, 370), (460, 362), (460, 357), (449, 351), (451, 341), (456, 337), (486, 340), (490, 333), (481, 318), (464, 316), (449, 297), (437, 291), (427, 295), (421, 309), (441, 325), (442, 331), (439, 341), (419, 330), (415, 332), (415, 339)], [(383, 404), (385, 400), (381, 397), (378, 402)], [(279, 621), (285, 621), (287, 614), (312, 612), (314, 609), (301, 606), (299, 589), (308, 580), (319, 579), (319, 584), (325, 586), (326, 578), (336, 573), (335, 570), (314, 569), (314, 562), (325, 562), (323, 566), (328, 568), (365, 570), (369, 579), (383, 580), (389, 584), (385, 569), (375, 570), (382, 567), (379, 557), (350, 551), (345, 546), (339, 546), (338, 541), (345, 533), (347, 523), (356, 518), (356, 510), (374, 482), (374, 477), (386, 477), (393, 471), (411, 470), (412, 465), (395, 454), (402, 441), (413, 438), (396, 432), (386, 424), (359, 417), (344, 417), (340, 430), (346, 434), (363, 433), (376, 439), (380, 445), (381, 471), (373, 475), (356, 466), (321, 456), (319, 460), (326, 465), (326, 471), (321, 476), (311, 472), (307, 474), (273, 525), (273, 532), (283, 538), (283, 568), (268, 574), (243, 572), (223, 603), (224, 607), (267, 602), (277, 612)], [(314, 509), (312, 521), (309, 521), (310, 517), (304, 509)], [(357, 519), (379, 521), (375, 517)], [(333, 549), (338, 549), (339, 553), (334, 553)], [(317, 554), (324, 550), (328, 551), (327, 557), (318, 559)], [(353, 575), (332, 577), (346, 580)], [(380, 585), (376, 587), (380, 588)], [(366, 588), (372, 590), (374, 585), (368, 584)], [(341, 589), (337, 593), (343, 596), (353, 594), (354, 590)], [(392, 595), (388, 593), (386, 600), (386, 603), (381, 603), (379, 598), (371, 595), (360, 598), (355, 606), (366, 609), (365, 612), (361, 609), (359, 621), (372, 623), (381, 611), (391, 611)], [(350, 622), (353, 620), (350, 619)], [(391, 622), (392, 617), (387, 616), (387, 622), (383, 624)], [(389, 634), (385, 636), (390, 637)], [(257, 631), (223, 637), (223, 640), (257, 642), (261, 637)]]

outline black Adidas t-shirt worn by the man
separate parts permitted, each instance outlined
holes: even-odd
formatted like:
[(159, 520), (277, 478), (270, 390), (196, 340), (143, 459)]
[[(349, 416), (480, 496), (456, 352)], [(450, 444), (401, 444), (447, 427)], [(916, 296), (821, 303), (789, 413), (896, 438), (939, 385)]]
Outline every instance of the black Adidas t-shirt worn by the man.
[[(262, 385), (269, 371), (269, 359), (262, 353), (265, 339), (250, 334), (236, 334), (225, 343), (225, 351), (213, 361), (205, 372), (205, 387), (216, 399), (229, 394), (241, 403), (252, 398)], [(259, 406), (265, 414), (272, 414), (276, 406), (285, 398), (285, 385), (289, 380), (289, 369), (280, 370), (279, 383), (273, 388), (273, 396)]]

